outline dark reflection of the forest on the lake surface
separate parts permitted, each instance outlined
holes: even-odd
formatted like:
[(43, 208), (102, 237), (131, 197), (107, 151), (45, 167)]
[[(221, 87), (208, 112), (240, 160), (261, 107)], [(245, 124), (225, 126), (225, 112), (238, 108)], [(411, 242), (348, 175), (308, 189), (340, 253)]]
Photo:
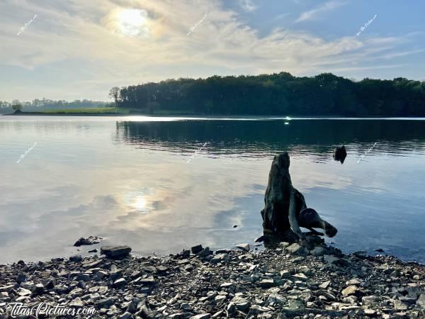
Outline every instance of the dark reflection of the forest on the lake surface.
[(356, 157), (374, 143), (380, 144), (379, 152), (390, 155), (424, 152), (425, 125), (422, 121), (370, 120), (297, 120), (290, 125), (284, 121), (132, 121), (117, 122), (114, 141), (179, 154), (194, 152), (208, 142), (212, 157), (264, 157), (288, 151), (326, 161), (329, 151), (339, 145), (350, 145), (350, 156)]

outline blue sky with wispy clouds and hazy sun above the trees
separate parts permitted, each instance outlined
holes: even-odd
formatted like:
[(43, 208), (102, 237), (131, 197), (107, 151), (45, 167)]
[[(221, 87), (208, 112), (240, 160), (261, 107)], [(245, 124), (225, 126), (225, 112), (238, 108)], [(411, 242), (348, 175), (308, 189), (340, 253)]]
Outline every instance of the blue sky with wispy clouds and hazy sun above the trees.
[(181, 77), (425, 79), (425, 1), (0, 0), (0, 101)]

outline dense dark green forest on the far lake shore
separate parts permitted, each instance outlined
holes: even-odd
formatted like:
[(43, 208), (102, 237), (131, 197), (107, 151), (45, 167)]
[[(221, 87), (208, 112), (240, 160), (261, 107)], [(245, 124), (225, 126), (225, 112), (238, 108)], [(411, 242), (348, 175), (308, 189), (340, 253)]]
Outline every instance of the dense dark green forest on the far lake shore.
[(352, 81), (325, 73), (167, 79), (111, 89), (117, 106), (147, 113), (288, 116), (425, 116), (425, 82)]

